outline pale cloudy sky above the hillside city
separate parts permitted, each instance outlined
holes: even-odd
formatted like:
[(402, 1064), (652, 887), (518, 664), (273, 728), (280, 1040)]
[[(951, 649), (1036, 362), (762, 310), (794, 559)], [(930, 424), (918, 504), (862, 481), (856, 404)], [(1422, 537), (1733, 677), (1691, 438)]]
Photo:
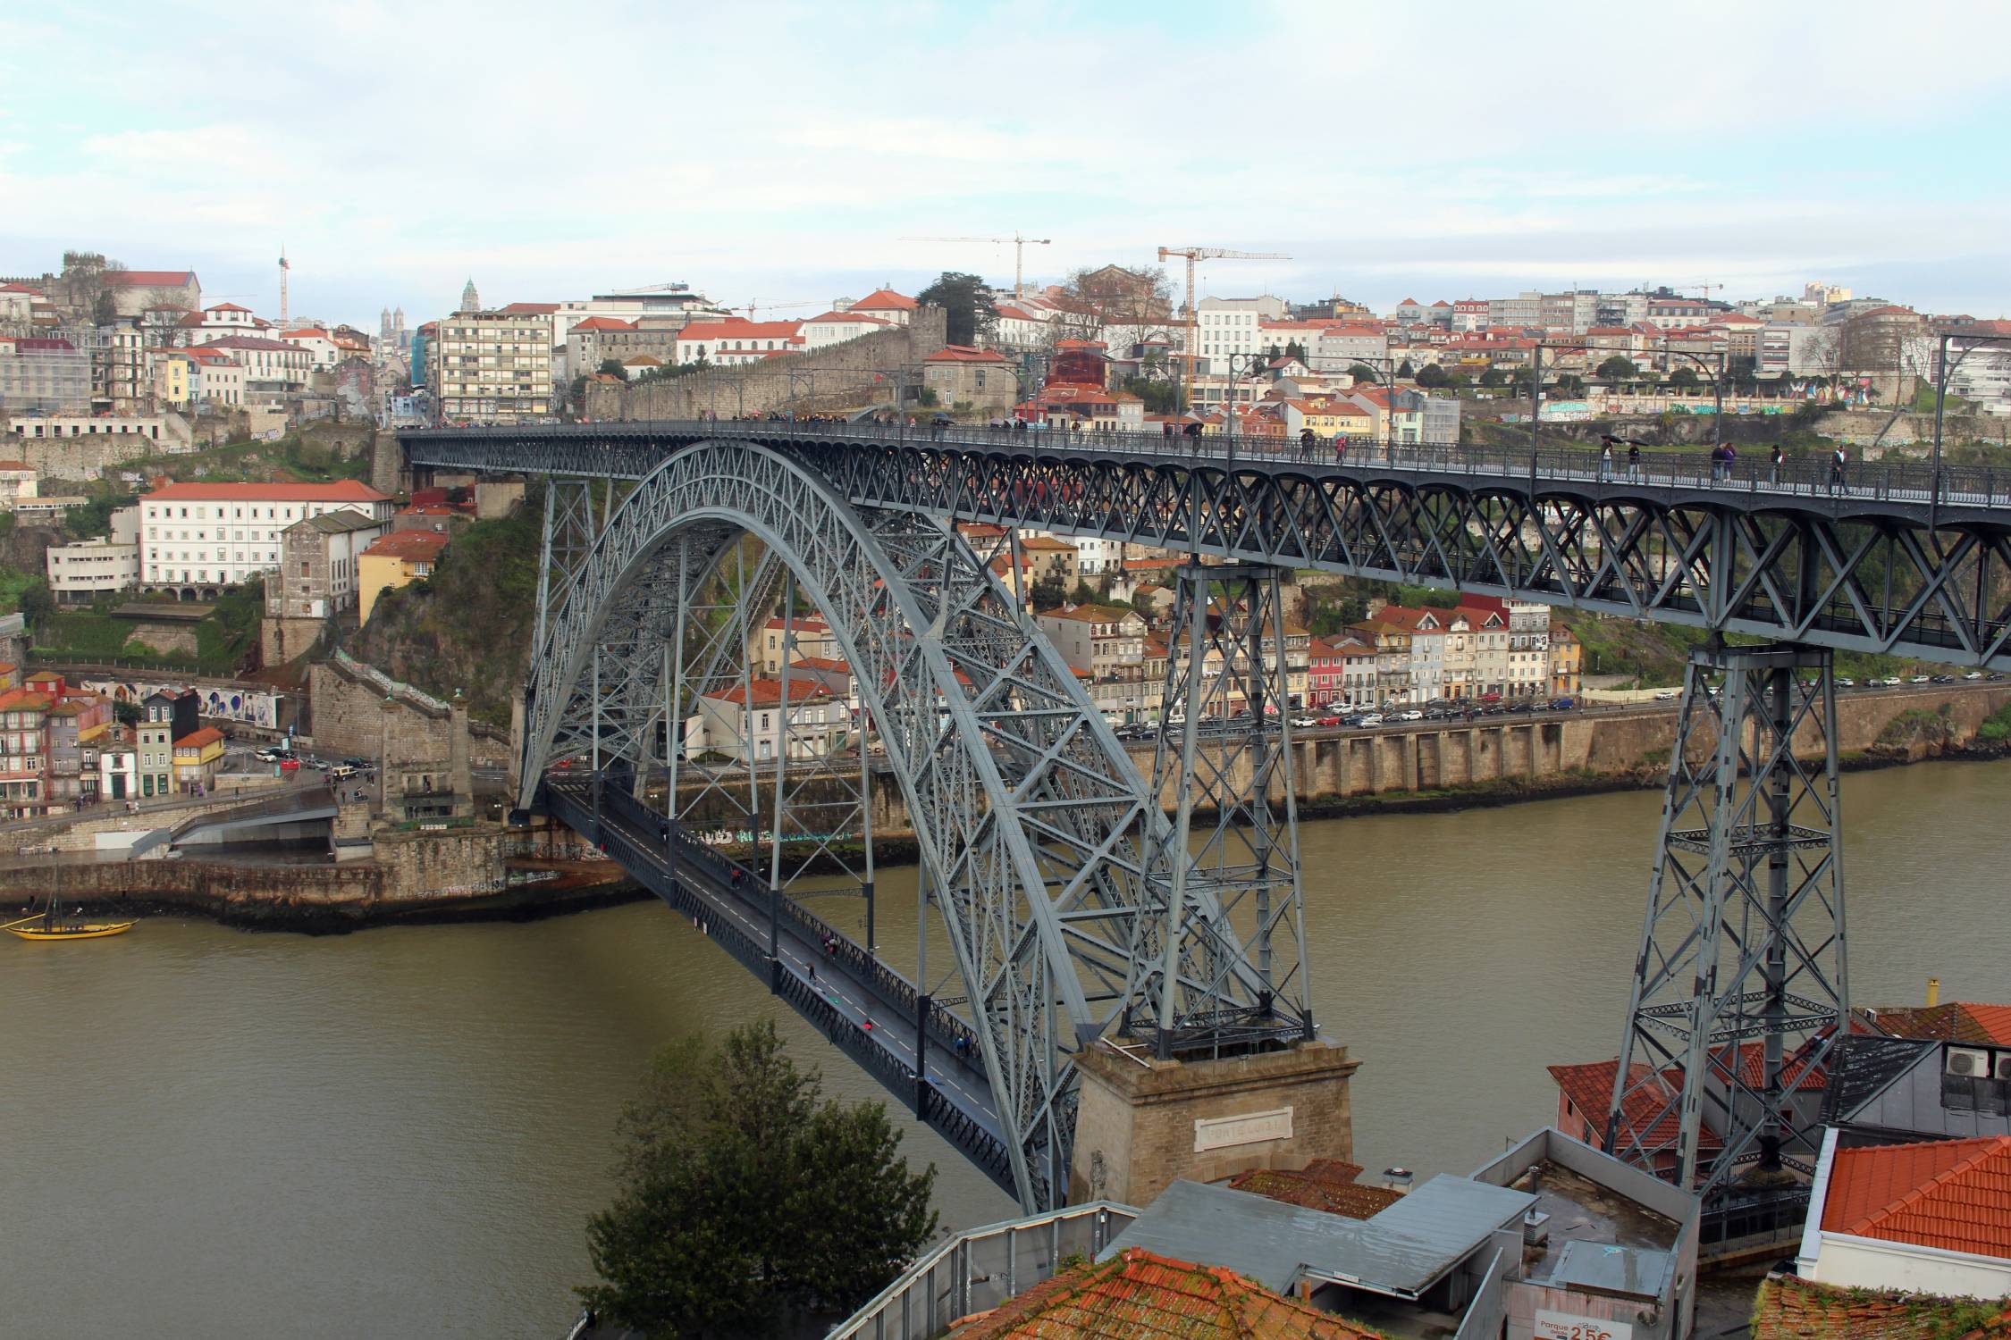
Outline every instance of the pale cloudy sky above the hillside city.
[[(1842, 283), (2011, 315), (2011, 4), (0, 6), (0, 273), (64, 249), (374, 329), (682, 281)], [(1176, 285), (1180, 263), (1168, 267)]]

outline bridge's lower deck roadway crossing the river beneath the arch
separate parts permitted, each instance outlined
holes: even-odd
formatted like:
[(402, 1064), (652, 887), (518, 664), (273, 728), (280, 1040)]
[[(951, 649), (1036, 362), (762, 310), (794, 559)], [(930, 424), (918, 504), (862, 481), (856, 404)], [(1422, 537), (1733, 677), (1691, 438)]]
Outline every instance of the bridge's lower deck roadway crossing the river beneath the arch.
[[(768, 954), (768, 888), (704, 844), (670, 834), (662, 816), (644, 810), (621, 788), (601, 790), (593, 777), (549, 777), (545, 808), (597, 842), (637, 884), (690, 916), (704, 934), (770, 990), (879, 1079), (927, 1125), (961, 1149), (1006, 1191), (1012, 1163), (999, 1137), (991, 1081), (963, 1021), (931, 1004), (925, 1057), (917, 1065), (915, 986), (863, 946), (786, 896), (774, 918), (776, 956)], [(827, 950), (827, 938), (835, 952)], [(814, 968), (814, 976), (812, 976)], [(957, 1039), (965, 1041), (959, 1051)], [(925, 1083), (917, 1085), (917, 1069)]]

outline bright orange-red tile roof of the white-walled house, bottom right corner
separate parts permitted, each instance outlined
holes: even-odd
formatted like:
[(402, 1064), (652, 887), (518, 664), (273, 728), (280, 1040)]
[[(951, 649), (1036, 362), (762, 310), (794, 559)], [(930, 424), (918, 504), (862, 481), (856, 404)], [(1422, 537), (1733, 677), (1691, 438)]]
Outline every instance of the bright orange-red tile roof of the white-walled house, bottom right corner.
[(1838, 1149), (1822, 1230), (2011, 1258), (2011, 1135)]

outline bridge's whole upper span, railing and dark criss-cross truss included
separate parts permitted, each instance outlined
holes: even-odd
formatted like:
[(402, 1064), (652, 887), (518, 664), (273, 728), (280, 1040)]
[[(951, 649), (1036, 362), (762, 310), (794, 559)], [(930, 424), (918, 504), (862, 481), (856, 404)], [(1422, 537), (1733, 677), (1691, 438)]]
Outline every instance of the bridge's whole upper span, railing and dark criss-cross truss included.
[[(788, 422), (402, 434), (414, 466), (639, 478), (702, 436), (786, 450), (871, 508), (1120, 538), (1237, 563), (1458, 587), (1844, 651), (2011, 669), (2011, 472), (1742, 466), (1474, 446)], [(1042, 436), (1042, 434), (1026, 434)], [(1237, 458), (1229, 458), (1237, 450)]]

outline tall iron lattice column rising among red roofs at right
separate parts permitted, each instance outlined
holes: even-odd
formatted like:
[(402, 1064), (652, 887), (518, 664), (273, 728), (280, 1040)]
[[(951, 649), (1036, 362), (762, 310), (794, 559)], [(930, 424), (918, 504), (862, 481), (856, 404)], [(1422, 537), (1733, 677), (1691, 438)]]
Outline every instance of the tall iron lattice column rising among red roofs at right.
[(1707, 1201), (1810, 1175), (1848, 1002), (1830, 653), (1695, 651), (1607, 1149)]

